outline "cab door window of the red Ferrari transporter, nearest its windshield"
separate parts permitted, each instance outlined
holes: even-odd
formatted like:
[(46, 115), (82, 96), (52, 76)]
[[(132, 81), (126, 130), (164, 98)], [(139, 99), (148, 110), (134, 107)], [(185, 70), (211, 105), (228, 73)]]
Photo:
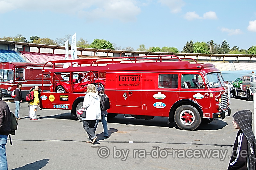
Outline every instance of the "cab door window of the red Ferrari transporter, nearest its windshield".
[(203, 79), (202, 79), (202, 76), (199, 74), (182, 74), (181, 75), (182, 89), (196, 89), (202, 84), (203, 84)]

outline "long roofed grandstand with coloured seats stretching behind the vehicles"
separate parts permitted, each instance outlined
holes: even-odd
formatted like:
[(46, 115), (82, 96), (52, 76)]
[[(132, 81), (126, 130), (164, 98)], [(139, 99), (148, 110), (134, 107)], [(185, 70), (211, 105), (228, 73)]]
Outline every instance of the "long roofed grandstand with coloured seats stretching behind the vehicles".
[[(33, 50), (37, 49), (35, 51), (38, 51), (38, 52), (31, 52), (31, 49)], [(56, 54), (56, 50), (57, 50), (57, 53), (59, 54)], [(71, 48), (69, 47), (69, 53), (71, 52), (70, 50)], [(52, 52), (52, 53), (46, 53), (45, 51)], [(155, 56), (156, 55), (176, 55), (181, 59), (193, 58), (198, 63), (211, 63), (215, 65), (216, 68), (218, 68), (220, 71), (256, 70), (256, 55), (164, 53), (164, 52), (148, 52), (148, 51), (89, 49), (89, 48), (79, 48), (79, 47), (77, 47), (77, 52), (78, 52), (77, 57), (79, 59), (138, 57), (138, 56), (147, 57), (152, 55), (155, 55)], [(65, 59), (64, 53), (65, 53), (65, 46), (21, 43), (21, 42), (0, 40), (0, 62), (30, 61), (35, 63), (46, 63), (51, 60), (64, 60)], [(80, 55), (78, 55), (79, 53)], [(71, 59), (70, 54), (68, 58)], [(216, 58), (222, 58), (222, 59), (216, 59)], [(224, 58), (226, 60), (224, 60)], [(124, 60), (124, 59), (120, 59), (120, 60), (122, 60), (121, 63), (131, 62), (129, 60)], [(187, 61), (187, 59), (185, 60)], [(188, 61), (193, 63), (192, 60), (188, 60)]]

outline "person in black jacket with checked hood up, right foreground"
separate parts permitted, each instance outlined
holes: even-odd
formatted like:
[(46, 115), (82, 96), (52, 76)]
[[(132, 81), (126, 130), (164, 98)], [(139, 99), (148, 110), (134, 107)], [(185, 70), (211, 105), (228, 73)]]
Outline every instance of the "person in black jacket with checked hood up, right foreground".
[(256, 140), (252, 132), (252, 112), (238, 111), (233, 115), (234, 128), (238, 129), (228, 170), (254, 170)]

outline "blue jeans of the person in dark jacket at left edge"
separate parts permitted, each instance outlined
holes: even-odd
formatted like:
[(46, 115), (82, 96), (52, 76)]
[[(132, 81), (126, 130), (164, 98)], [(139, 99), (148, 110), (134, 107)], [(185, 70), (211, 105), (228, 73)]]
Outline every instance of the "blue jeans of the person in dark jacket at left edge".
[(7, 135), (0, 135), (0, 170), (7, 170), (7, 159), (5, 145), (7, 143)]

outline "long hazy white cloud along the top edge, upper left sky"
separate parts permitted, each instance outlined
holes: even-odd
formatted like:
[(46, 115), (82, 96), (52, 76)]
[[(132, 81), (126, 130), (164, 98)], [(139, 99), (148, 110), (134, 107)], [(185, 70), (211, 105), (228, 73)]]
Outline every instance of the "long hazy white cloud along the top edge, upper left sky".
[(140, 14), (138, 0), (0, 0), (0, 13), (13, 10), (28, 12), (55, 12), (77, 15), (88, 20), (118, 19), (132, 22)]

